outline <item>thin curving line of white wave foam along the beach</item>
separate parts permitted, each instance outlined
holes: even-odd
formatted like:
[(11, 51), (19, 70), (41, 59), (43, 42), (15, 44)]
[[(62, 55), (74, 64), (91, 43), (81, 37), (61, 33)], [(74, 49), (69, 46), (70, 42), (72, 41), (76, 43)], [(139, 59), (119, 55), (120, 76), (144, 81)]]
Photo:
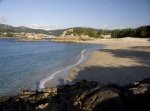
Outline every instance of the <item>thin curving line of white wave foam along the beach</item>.
[(69, 70), (69, 69), (71, 69), (72, 67), (74, 67), (74, 66), (80, 64), (80, 63), (83, 61), (83, 59), (84, 59), (84, 52), (85, 52), (85, 51), (86, 51), (86, 49), (82, 50), (80, 59), (78, 60), (78, 62), (77, 62), (76, 64), (71, 65), (71, 66), (68, 66), (68, 67), (66, 67), (66, 68), (64, 68), (64, 69), (61, 69), (61, 70), (59, 70), (59, 71), (56, 71), (55, 73), (51, 74), (49, 77), (44, 78), (43, 80), (41, 80), (40, 83), (39, 83), (39, 90), (44, 89), (44, 88), (45, 88), (45, 87), (44, 87), (44, 84), (45, 84), (47, 81), (52, 80), (56, 74), (58, 74), (58, 73), (60, 73), (60, 72), (63, 72), (63, 71), (65, 71), (65, 70)]

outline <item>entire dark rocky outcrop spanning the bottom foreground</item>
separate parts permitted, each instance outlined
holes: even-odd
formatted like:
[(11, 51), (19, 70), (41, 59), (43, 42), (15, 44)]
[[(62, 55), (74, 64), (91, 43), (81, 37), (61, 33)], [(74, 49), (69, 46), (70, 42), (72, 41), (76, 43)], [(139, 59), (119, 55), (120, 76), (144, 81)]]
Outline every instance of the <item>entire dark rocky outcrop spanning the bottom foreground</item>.
[(0, 111), (149, 111), (150, 78), (120, 86), (82, 80), (0, 98)]

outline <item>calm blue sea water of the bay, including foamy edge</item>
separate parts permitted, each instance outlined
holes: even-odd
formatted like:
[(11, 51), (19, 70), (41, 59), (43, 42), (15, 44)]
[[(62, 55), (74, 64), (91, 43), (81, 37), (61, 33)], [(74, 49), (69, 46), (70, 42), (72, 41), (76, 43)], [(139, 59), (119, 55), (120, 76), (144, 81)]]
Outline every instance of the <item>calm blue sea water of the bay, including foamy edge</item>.
[(44, 79), (83, 61), (92, 50), (103, 47), (53, 42), (16, 43), (12, 40), (0, 39), (0, 96), (36, 90)]

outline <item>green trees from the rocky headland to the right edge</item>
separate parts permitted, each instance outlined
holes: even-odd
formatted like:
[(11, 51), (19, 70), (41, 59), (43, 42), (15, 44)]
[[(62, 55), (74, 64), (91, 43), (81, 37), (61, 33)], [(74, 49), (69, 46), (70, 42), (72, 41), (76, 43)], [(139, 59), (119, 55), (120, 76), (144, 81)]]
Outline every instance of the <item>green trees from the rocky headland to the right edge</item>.
[(73, 31), (67, 31), (66, 35), (88, 35), (89, 37), (102, 38), (104, 35), (111, 35), (112, 38), (121, 37), (139, 37), (139, 38), (150, 38), (150, 25), (140, 26), (138, 28), (126, 28), (126, 29), (93, 29), (84, 27), (70, 28)]

